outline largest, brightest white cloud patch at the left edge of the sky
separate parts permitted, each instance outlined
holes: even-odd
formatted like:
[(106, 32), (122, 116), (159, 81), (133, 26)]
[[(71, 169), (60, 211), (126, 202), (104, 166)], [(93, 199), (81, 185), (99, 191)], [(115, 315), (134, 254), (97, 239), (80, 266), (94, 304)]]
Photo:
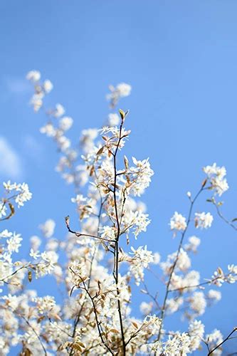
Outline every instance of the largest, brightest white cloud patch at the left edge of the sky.
[(5, 137), (0, 136), (0, 174), (6, 179), (22, 177), (21, 158)]

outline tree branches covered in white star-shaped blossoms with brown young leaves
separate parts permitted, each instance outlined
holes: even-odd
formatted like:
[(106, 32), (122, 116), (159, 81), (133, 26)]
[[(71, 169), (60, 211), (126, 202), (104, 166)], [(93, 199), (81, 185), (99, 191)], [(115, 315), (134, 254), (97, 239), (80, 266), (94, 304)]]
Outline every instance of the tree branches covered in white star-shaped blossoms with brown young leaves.
[[(31, 70), (27, 79), (33, 83), (31, 104), (35, 111), (44, 110), (48, 119), (41, 132), (56, 142), (60, 159), (56, 169), (63, 179), (75, 187), (71, 201), (76, 206), (79, 226), (70, 225), (65, 217), (65, 240), (53, 237), (55, 222), (41, 224), (46, 238), (45, 251), (39, 251), (41, 239), (31, 238), (29, 261), (16, 259), (21, 235), (1, 229), (0, 254), (0, 355), (20, 345), (21, 355), (187, 355), (194, 351), (221, 355), (226, 337), (219, 330), (206, 335), (199, 320), (206, 307), (221, 299), (218, 290), (223, 283), (237, 281), (237, 266), (217, 267), (213, 276), (201, 280), (191, 270), (191, 255), (200, 239), (188, 236), (189, 226), (209, 229), (213, 216), (195, 212), (196, 201), (204, 191), (217, 216), (233, 229), (235, 219), (228, 221), (221, 213), (218, 197), (226, 192), (226, 169), (215, 163), (204, 167), (204, 180), (196, 194), (187, 193), (187, 216), (174, 212), (169, 226), (176, 239), (177, 251), (161, 261), (159, 253), (147, 246), (132, 246), (150, 223), (146, 206), (140, 197), (149, 187), (153, 175), (149, 160), (128, 159), (122, 155), (130, 130), (125, 129), (128, 112), (111, 112), (99, 130), (83, 130), (80, 149), (73, 149), (66, 132), (73, 119), (65, 116), (63, 105), (46, 109), (43, 98), (52, 89), (50, 80)], [(120, 83), (110, 86), (110, 108), (120, 98), (130, 95), (131, 87)], [(79, 151), (79, 152), (78, 152)], [(26, 183), (4, 182), (0, 202), (0, 220), (6, 224), (31, 199)], [(149, 292), (144, 281), (145, 269), (156, 266), (162, 278), (164, 299)], [(38, 296), (30, 288), (33, 279), (50, 274), (65, 291), (61, 303), (53, 295)], [(29, 283), (26, 284), (26, 281)], [(139, 309), (143, 315), (132, 315), (132, 289), (138, 286), (150, 298)], [(186, 332), (166, 330), (169, 315), (182, 311), (189, 320)]]

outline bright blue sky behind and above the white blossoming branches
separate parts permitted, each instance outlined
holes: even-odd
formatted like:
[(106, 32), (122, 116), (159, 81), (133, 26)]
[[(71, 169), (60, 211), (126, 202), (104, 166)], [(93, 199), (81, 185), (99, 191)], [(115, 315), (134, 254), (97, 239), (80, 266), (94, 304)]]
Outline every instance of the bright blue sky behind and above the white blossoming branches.
[[(177, 249), (170, 216), (175, 210), (187, 214), (186, 192), (199, 189), (206, 164), (226, 166), (230, 189), (223, 195), (223, 212), (237, 216), (236, 19), (236, 0), (1, 1), (0, 178), (25, 181), (33, 192), (33, 199), (3, 229), (22, 234), (23, 251), (46, 219), (56, 221), (60, 239), (66, 214), (76, 224), (73, 189), (54, 170), (55, 145), (39, 132), (46, 118), (28, 105), (31, 85), (25, 76), (31, 69), (52, 80), (48, 103), (62, 103), (73, 117), (68, 135), (75, 143), (81, 130), (105, 121), (107, 86), (122, 81), (132, 85), (132, 95), (120, 103), (130, 109), (126, 127), (132, 135), (125, 154), (149, 157), (155, 172), (143, 197), (152, 224), (139, 244), (159, 251), (163, 259)], [(7, 159), (6, 152), (11, 154)], [(237, 264), (237, 232), (200, 199), (196, 211), (209, 209), (213, 227), (189, 235), (201, 237), (193, 268), (202, 278), (209, 278), (217, 266)], [(46, 283), (41, 286), (42, 294), (54, 293)], [(236, 286), (221, 291), (221, 302), (200, 319), (207, 332), (220, 328), (226, 335), (236, 326)], [(179, 315), (172, 318), (171, 328), (185, 329)], [(226, 352), (236, 350), (235, 340), (226, 345)]]

